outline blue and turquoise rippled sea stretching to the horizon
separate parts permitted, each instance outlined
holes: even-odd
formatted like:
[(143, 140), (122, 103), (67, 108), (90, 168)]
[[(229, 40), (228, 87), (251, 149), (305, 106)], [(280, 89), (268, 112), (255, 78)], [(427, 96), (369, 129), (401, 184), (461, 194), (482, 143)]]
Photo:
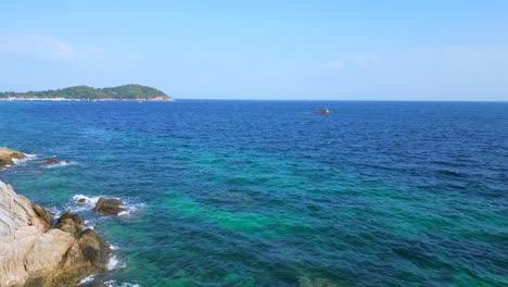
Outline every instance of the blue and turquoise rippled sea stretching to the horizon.
[(116, 286), (507, 286), (507, 126), (508, 103), (0, 102), (0, 146), (38, 157), (0, 179), (117, 247)]

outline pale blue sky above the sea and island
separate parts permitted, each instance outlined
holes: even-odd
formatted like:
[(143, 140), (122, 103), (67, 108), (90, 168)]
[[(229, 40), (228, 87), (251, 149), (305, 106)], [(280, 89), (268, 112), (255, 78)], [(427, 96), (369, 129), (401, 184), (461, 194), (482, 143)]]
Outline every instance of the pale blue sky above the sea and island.
[(3, 1), (0, 90), (508, 100), (508, 1)]

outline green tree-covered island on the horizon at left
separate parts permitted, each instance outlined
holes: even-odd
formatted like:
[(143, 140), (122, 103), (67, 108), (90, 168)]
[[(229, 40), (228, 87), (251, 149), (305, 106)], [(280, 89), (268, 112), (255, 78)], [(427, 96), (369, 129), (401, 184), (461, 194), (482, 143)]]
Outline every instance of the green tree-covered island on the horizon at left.
[(173, 100), (155, 88), (141, 85), (123, 85), (113, 88), (76, 86), (56, 90), (0, 92), (0, 100)]

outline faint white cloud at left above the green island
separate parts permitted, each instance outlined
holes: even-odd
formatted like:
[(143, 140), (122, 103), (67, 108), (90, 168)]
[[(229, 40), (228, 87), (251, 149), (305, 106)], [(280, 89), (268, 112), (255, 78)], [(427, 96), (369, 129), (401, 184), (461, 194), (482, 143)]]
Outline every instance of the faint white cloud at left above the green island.
[(65, 60), (76, 52), (65, 41), (46, 35), (0, 35), (0, 54)]

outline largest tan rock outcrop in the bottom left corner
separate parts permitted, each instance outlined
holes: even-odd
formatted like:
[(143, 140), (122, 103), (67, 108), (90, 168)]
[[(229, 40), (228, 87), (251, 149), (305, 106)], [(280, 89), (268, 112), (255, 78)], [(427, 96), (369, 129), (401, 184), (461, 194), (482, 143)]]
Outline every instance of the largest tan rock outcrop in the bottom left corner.
[(77, 286), (105, 271), (110, 246), (82, 219), (64, 213), (55, 227), (43, 208), (0, 182), (0, 286)]

